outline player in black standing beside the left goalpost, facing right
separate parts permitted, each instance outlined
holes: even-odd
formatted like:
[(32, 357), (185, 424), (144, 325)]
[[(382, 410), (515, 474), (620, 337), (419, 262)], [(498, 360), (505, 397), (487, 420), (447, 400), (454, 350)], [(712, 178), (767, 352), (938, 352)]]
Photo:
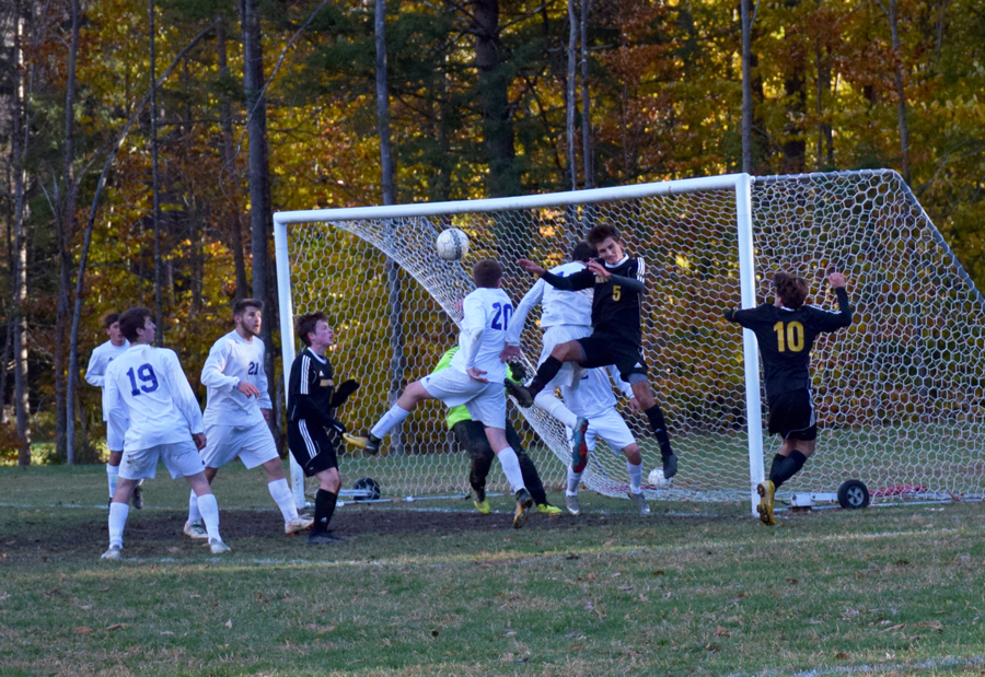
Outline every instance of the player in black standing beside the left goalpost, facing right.
[(328, 326), (328, 317), (324, 313), (302, 315), (294, 323), (294, 330), (306, 348), (291, 364), (288, 386), (288, 446), (304, 469), (305, 477), (315, 476), (321, 482), (315, 494), (314, 524), (308, 542), (328, 544), (343, 540), (328, 530), (341, 478), (338, 475), (335, 446), (325, 429), (339, 433), (346, 431), (335, 420), (335, 409), (349, 398), (359, 384), (346, 381), (338, 389), (335, 388), (332, 364), (325, 357), (325, 351), (335, 342), (335, 332)]

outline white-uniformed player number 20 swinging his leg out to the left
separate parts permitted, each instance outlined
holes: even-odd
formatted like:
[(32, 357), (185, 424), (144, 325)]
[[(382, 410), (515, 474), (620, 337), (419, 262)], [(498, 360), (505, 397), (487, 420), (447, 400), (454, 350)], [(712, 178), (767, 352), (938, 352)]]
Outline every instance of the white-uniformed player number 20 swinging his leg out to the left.
[(499, 458), (502, 471), (517, 495), (513, 527), (526, 523), (533, 499), (523, 485), (520, 460), (506, 439), (507, 367), (499, 360), (506, 347), (506, 334), (513, 315), (513, 304), (500, 289), (502, 266), (485, 259), (475, 265), (472, 279), (476, 289), (463, 303), (459, 352), (448, 369), (431, 373), (408, 385), (390, 411), (383, 415), (363, 436), (343, 435), (347, 442), (375, 454), (383, 437), (410, 416), (418, 402), (440, 399), (449, 407), (465, 405), (472, 420), (486, 428), (489, 446)]

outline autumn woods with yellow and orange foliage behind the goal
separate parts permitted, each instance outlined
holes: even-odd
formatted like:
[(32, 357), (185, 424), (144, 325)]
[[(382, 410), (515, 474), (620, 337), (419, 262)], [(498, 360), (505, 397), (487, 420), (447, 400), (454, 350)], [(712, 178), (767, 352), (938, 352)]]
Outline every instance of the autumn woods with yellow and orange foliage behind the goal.
[(985, 282), (980, 0), (7, 0), (0, 34), (8, 460), (96, 460), (81, 376), (134, 305), (204, 399), (266, 300), (280, 401), (276, 210), (891, 167)]

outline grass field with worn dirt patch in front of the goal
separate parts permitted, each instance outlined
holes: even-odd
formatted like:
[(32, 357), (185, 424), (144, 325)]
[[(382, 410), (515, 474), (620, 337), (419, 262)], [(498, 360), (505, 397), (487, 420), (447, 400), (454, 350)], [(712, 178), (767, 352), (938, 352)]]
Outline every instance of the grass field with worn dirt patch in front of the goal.
[(311, 548), (262, 474), (215, 488), (228, 556), (159, 469), (113, 563), (102, 466), (0, 468), (0, 675), (985, 674), (982, 504), (350, 504)]

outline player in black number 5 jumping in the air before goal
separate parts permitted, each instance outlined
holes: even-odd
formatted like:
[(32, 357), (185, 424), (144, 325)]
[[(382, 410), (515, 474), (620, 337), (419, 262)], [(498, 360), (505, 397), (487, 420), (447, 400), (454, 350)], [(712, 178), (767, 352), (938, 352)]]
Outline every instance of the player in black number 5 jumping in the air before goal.
[[(646, 264), (641, 258), (630, 258), (623, 252), (619, 232), (612, 225), (596, 225), (587, 240), (600, 259), (590, 260), (588, 268), (567, 277), (553, 275), (525, 258), (517, 261), (521, 268), (557, 289), (592, 289), (592, 334), (558, 345), (525, 388), (513, 386), (508, 389), (522, 406), (529, 407), (565, 362), (577, 362), (586, 369), (616, 365), (623, 381), (633, 386), (633, 396), (639, 409), (647, 415), (650, 429), (660, 443), (663, 476), (670, 479), (677, 472), (677, 456), (671, 448), (663, 411), (653, 397), (647, 380), (647, 363), (640, 350), (640, 296), (647, 289), (644, 281)], [(507, 347), (503, 358), (510, 359), (518, 353), (519, 348)]]

